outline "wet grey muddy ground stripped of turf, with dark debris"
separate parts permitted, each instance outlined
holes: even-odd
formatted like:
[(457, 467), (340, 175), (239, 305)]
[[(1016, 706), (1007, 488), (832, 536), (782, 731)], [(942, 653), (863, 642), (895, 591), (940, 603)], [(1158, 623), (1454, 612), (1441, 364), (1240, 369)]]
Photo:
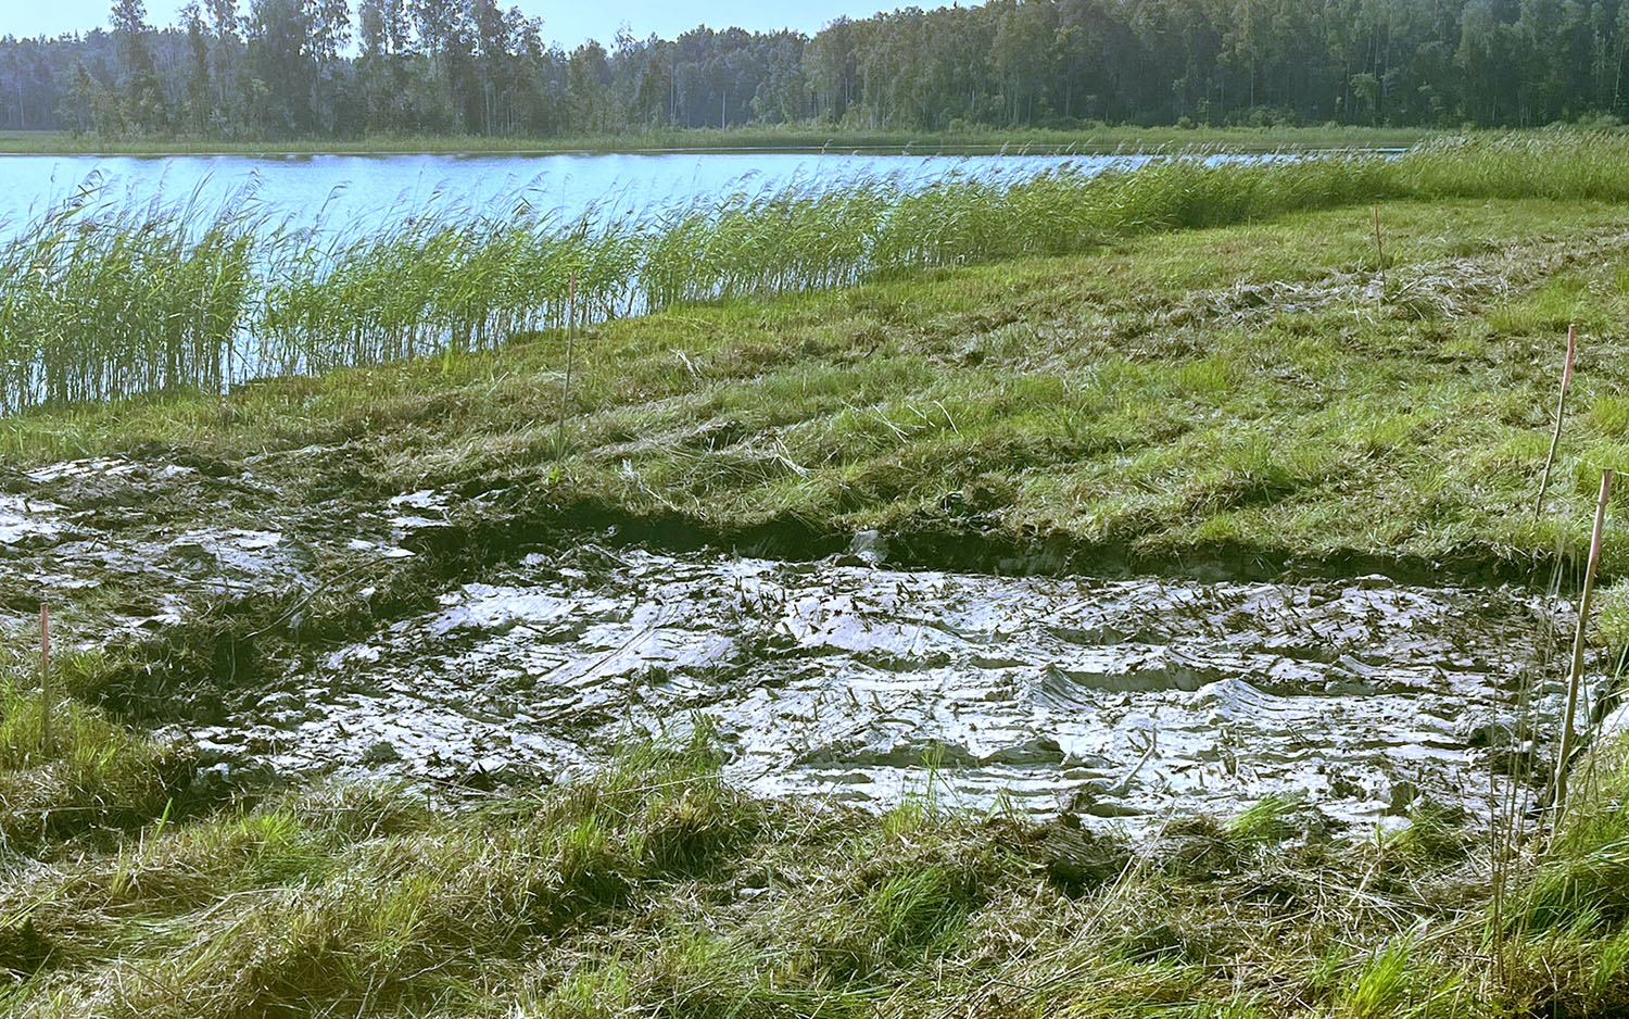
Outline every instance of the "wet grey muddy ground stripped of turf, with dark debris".
[[(300, 455), (326, 452), (280, 457)], [(1300, 792), (1393, 823), (1535, 796), (1512, 773), (1543, 770), (1561, 708), (1569, 608), (1521, 587), (898, 569), (878, 535), (818, 561), (616, 533), (437, 559), (479, 501), (282, 476), (184, 457), (0, 476), (13, 644), (52, 603), (59, 642), (112, 662), (109, 704), (200, 748), (200, 783), (479, 794), (705, 724), (769, 794), (1139, 827)]]

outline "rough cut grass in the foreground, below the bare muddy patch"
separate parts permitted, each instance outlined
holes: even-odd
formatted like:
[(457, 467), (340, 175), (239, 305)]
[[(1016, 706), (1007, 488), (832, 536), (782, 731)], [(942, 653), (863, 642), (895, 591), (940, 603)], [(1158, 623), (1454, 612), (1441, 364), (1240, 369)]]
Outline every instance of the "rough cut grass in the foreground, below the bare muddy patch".
[[(15, 711), (7, 701), (7, 719)], [(68, 758), (140, 773), (140, 735)], [(705, 730), (534, 796), (261, 794), (5, 858), (11, 1016), (1611, 1016), (1629, 1004), (1621, 748), (1552, 838), (1274, 797), (1147, 841), (914, 796), (756, 801)], [(13, 784), (29, 761), (0, 761)], [(930, 778), (924, 771), (925, 787)], [(122, 786), (104, 784), (103, 794)], [(0, 825), (26, 822), (0, 799)]]

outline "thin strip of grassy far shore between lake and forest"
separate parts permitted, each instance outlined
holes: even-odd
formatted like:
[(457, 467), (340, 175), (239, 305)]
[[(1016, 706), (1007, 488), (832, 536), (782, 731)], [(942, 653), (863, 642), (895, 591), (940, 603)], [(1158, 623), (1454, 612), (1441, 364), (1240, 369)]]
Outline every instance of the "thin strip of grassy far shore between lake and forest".
[(68, 132), (0, 130), (0, 155), (570, 155), (665, 152), (865, 150), (912, 155), (989, 152), (1106, 153), (1205, 147), (1232, 152), (1399, 148), (1442, 134), (1416, 127), (1135, 127), (982, 129), (968, 132), (733, 127), (627, 132), (562, 139), (401, 135), (355, 140), (222, 142), (210, 139), (98, 139)]

